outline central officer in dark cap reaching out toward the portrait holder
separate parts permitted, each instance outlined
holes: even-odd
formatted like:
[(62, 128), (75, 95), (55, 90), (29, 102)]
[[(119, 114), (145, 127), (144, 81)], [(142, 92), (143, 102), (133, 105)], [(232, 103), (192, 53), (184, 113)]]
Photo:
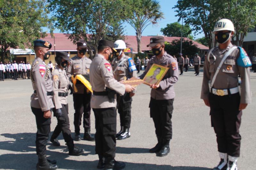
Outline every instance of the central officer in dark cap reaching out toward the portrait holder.
[(91, 106), (95, 115), (95, 151), (99, 156), (98, 168), (123, 169), (125, 164), (115, 161), (116, 152), (116, 92), (135, 90), (131, 85), (123, 85), (113, 76), (110, 63), (107, 61), (115, 51), (114, 43), (100, 40), (98, 54), (90, 66), (90, 83), (93, 95)]

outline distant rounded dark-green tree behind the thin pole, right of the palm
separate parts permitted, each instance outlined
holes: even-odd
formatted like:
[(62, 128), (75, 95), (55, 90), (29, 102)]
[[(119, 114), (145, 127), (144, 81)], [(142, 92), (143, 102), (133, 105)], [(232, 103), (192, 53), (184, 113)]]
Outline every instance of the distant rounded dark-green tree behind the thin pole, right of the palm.
[(182, 27), (180, 23), (174, 22), (171, 24), (167, 24), (164, 28), (161, 28), (161, 32), (164, 34), (164, 36), (167, 37), (181, 37), (181, 30), (183, 30), (183, 37), (188, 37), (190, 40), (193, 40), (193, 36), (191, 35), (192, 30), (188, 24), (185, 24)]

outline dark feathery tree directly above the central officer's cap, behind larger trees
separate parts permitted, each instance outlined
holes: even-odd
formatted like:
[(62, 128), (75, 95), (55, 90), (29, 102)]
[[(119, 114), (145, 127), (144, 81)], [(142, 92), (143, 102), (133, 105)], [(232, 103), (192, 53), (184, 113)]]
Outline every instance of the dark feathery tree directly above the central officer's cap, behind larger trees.
[(109, 26), (103, 39), (113, 42), (116, 40), (125, 41), (124, 27), (122, 26), (122, 22), (114, 23), (112, 26)]

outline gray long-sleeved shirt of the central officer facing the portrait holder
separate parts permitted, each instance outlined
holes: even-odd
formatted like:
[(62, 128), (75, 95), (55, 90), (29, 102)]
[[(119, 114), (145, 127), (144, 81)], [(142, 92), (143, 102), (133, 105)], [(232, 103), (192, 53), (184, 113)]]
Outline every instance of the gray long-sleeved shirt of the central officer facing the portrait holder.
[[(125, 86), (114, 78), (110, 63), (103, 55), (100, 54), (97, 54), (92, 60), (92, 64), (90, 66), (90, 83), (92, 85), (92, 90), (95, 92), (106, 91), (106, 87), (108, 87), (115, 90), (120, 95), (124, 95), (125, 93)], [(91, 107), (116, 107), (116, 95), (115, 101), (110, 102), (108, 100), (108, 96), (95, 96), (92, 94)]]

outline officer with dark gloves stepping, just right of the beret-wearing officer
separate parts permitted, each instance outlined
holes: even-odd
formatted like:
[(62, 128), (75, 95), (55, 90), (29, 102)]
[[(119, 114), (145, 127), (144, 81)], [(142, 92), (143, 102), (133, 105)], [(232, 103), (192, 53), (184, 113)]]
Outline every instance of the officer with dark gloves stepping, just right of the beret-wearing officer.
[(56, 116), (58, 124), (55, 127), (51, 142), (55, 146), (60, 146), (57, 137), (62, 131), (63, 138), (68, 146), (68, 154), (78, 156), (84, 153), (84, 150), (75, 146), (74, 141), (71, 137), (71, 131), (69, 128), (68, 118), (68, 87), (69, 79), (64, 70), (68, 66), (69, 54), (65, 52), (56, 52), (55, 61), (58, 64), (52, 72), (53, 76), (53, 102), (54, 109), (53, 113)]

